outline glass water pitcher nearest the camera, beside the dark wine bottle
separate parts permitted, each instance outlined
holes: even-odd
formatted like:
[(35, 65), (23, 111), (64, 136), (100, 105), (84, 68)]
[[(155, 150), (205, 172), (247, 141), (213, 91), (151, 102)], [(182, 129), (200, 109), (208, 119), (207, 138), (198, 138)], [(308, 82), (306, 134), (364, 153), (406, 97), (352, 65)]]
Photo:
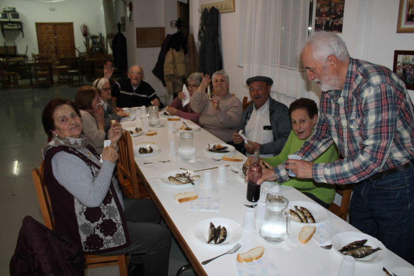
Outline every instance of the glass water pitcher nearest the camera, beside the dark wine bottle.
[(271, 192), (266, 196), (266, 212), (260, 227), (260, 238), (271, 244), (285, 242), (289, 238), (290, 217), (286, 211), (289, 200), (282, 194)]

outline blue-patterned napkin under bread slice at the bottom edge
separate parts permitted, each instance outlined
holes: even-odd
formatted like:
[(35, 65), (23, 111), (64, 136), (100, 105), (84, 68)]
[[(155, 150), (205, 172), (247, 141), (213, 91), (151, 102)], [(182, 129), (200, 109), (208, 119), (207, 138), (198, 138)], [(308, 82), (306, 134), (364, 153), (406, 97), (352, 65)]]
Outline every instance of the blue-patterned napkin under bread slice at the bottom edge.
[(261, 257), (258, 260), (248, 263), (239, 263), (234, 261), (237, 269), (237, 275), (241, 276), (280, 276), (273, 259), (270, 257)]

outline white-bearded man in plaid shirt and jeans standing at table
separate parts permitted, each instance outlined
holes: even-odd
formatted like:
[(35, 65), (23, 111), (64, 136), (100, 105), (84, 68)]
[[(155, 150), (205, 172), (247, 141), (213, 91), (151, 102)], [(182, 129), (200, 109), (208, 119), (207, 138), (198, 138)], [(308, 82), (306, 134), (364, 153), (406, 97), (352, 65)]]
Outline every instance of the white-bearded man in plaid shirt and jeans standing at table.
[[(330, 32), (310, 36), (301, 59), (323, 91), (315, 132), (297, 152), (302, 160), (263, 169), (258, 184), (288, 180), (286, 169), (317, 182), (356, 183), (351, 224), (414, 264), (414, 107), (404, 83), (387, 67), (350, 58)], [(344, 158), (313, 163), (332, 143)]]

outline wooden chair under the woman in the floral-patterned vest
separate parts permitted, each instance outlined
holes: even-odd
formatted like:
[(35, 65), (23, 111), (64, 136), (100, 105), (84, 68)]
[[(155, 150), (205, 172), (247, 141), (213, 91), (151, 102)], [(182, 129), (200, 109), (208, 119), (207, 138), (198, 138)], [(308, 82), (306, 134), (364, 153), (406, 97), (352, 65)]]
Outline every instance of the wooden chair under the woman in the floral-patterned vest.
[[(49, 229), (55, 230), (55, 223), (53, 220), (52, 205), (46, 187), (46, 182), (43, 179), (43, 161), (38, 168), (31, 171), (34, 186), (36, 188), (37, 199), (39, 200), (40, 211), (42, 213), (44, 225)], [(94, 268), (101, 266), (119, 266), (120, 276), (128, 275), (128, 254), (113, 255), (113, 256), (99, 256), (85, 254), (85, 267)]]

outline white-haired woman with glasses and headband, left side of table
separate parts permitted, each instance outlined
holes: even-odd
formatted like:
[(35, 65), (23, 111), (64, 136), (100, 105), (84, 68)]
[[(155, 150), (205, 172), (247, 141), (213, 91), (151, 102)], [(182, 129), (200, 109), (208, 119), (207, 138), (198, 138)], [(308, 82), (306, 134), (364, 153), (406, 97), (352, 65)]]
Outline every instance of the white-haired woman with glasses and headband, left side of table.
[(105, 132), (108, 133), (109, 128), (111, 128), (111, 120), (117, 120), (118, 122), (120, 122), (122, 117), (127, 117), (128, 115), (122, 111), (122, 108), (113, 108), (112, 106), (108, 105), (107, 101), (112, 98), (111, 85), (109, 84), (109, 79), (95, 79), (95, 81), (93, 82), (93, 86), (95, 86), (99, 90), (99, 97), (101, 98), (101, 103), (103, 107), (103, 127)]

